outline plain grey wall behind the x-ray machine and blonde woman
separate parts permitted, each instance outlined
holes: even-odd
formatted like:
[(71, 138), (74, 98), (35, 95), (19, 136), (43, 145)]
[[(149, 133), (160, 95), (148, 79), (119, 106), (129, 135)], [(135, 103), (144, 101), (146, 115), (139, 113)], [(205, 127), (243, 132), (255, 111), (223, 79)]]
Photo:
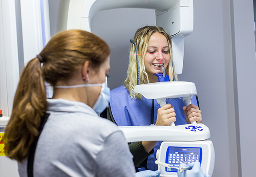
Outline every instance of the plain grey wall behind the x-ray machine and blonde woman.
[[(49, 0), (51, 36), (56, 33), (58, 3)], [(111, 89), (122, 85), (129, 39), (145, 25), (155, 25), (154, 10), (106, 10), (92, 18), (92, 32), (111, 48)], [(194, 0), (194, 31), (185, 38), (179, 80), (195, 82), (197, 87), (203, 123), (215, 147), (212, 177), (255, 174), (254, 39), (253, 0)]]

